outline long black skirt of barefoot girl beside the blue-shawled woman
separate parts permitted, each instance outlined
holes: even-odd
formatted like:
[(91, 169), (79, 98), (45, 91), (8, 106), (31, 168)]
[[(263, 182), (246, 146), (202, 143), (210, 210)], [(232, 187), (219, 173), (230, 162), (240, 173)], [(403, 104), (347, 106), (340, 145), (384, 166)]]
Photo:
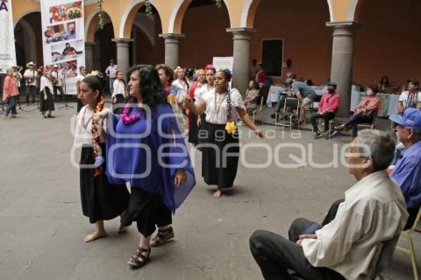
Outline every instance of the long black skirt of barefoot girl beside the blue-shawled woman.
[[(105, 151), (105, 145), (101, 144)], [(104, 153), (105, 154), (105, 153)], [(93, 164), (95, 162), (91, 146), (82, 147), (80, 164)], [(93, 176), (93, 168), (80, 169), (80, 198), (83, 215), (89, 217), (89, 222), (111, 220), (122, 214), (129, 203), (130, 193), (125, 185), (109, 184), (103, 172), (97, 177)]]

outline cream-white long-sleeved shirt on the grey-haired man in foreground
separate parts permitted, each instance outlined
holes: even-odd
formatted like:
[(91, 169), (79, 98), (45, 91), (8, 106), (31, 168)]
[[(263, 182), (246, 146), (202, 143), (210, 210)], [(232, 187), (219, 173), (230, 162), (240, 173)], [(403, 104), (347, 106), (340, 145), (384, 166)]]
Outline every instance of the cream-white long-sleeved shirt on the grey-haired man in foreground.
[(405, 199), (386, 171), (360, 180), (345, 192), (335, 219), (304, 239), (304, 255), (315, 267), (327, 267), (349, 280), (367, 274), (379, 243), (400, 233), (408, 219)]

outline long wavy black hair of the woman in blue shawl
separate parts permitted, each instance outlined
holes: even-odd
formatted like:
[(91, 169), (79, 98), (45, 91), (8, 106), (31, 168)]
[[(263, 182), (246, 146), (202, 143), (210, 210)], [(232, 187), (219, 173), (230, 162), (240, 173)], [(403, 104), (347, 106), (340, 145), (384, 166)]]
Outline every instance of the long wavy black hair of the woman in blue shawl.
[[(127, 81), (130, 81), (130, 75), (139, 71), (139, 85), (142, 94), (142, 103), (151, 109), (158, 104), (168, 103), (164, 94), (158, 71), (152, 65), (138, 65), (129, 69), (127, 72)], [(136, 98), (131, 98), (131, 102), (136, 102)]]

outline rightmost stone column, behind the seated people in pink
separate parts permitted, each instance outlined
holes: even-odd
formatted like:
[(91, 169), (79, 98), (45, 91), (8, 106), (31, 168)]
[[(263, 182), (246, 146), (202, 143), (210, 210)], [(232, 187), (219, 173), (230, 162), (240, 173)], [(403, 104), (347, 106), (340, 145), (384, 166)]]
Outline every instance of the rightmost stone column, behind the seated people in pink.
[(327, 22), (326, 26), (333, 29), (330, 81), (338, 85), (337, 92), (341, 94), (338, 116), (348, 117), (351, 104), (354, 30), (360, 25), (347, 21)]

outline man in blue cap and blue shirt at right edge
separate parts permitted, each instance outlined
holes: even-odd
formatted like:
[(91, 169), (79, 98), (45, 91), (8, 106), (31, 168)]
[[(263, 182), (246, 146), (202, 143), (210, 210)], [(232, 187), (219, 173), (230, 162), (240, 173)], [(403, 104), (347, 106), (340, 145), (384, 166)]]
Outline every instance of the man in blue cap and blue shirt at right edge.
[(396, 136), (404, 145), (392, 177), (402, 189), (409, 218), (405, 230), (411, 228), (421, 206), (421, 110), (408, 108), (403, 116), (389, 117), (396, 124)]

